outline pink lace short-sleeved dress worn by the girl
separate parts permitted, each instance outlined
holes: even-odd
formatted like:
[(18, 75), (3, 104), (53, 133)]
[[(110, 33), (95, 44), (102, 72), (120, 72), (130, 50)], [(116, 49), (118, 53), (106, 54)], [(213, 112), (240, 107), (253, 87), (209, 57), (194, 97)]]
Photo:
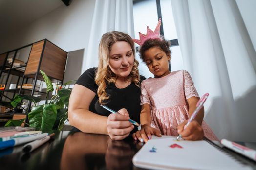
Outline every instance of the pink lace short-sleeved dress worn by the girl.
[[(199, 97), (190, 74), (185, 70), (171, 72), (165, 77), (148, 78), (141, 83), (141, 105), (151, 106), (151, 127), (163, 135), (177, 136), (177, 126), (189, 118), (187, 99)], [(218, 140), (203, 121), (204, 136)]]

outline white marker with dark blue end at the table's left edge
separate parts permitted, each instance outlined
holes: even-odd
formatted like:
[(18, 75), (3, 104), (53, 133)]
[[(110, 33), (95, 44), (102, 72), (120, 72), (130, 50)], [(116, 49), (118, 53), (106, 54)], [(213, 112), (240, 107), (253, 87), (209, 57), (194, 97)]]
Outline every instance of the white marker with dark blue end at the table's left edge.
[(43, 134), (39, 134), (39, 135), (35, 135), (35, 136), (19, 137), (19, 138), (14, 138), (11, 140), (3, 141), (3, 142), (0, 142), (0, 149), (14, 147), (16, 145), (21, 145), (23, 143), (27, 143), (27, 142), (42, 138), (47, 135), (48, 135), (48, 133), (43, 133)]

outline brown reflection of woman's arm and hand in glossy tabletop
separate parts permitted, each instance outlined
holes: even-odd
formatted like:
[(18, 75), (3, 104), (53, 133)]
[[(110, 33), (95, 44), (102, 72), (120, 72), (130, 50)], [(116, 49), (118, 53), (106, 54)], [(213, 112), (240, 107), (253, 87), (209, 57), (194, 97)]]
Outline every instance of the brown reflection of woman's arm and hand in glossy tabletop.
[(69, 135), (61, 157), (61, 170), (131, 170), (132, 157), (141, 144), (128, 138), (111, 140), (107, 135), (82, 132)]

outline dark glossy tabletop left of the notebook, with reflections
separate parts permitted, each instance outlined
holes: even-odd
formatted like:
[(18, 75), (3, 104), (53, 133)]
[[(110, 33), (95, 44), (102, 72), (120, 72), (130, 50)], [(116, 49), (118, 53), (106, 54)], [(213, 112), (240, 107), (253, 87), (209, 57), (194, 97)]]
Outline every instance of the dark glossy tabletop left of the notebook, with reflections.
[(22, 145), (0, 150), (0, 170), (132, 170), (133, 155), (142, 144), (128, 137), (111, 140), (107, 135), (58, 131), (31, 153)]

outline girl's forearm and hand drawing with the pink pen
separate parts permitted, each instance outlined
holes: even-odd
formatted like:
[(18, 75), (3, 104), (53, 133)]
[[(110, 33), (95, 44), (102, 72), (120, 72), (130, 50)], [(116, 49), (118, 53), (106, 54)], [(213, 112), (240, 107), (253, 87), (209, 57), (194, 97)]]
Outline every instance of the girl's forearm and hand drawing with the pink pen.
[[(187, 99), (189, 104), (189, 117), (196, 109), (196, 103), (199, 101), (198, 97), (191, 97)], [(204, 131), (201, 126), (204, 119), (204, 107), (197, 113), (193, 121), (184, 129), (184, 126), (187, 124), (188, 120), (184, 121), (182, 124), (178, 125), (178, 133), (182, 135), (182, 138), (185, 140), (201, 140), (204, 136)]]

